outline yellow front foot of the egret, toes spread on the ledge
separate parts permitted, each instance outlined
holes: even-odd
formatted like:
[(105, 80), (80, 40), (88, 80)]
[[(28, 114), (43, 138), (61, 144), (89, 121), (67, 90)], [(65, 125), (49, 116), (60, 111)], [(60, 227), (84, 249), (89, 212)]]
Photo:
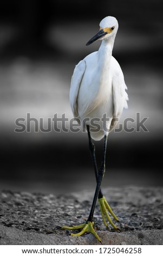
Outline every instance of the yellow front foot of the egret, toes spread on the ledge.
[(89, 231), (90, 233), (94, 234), (94, 236), (96, 237), (97, 240), (99, 240), (99, 242), (101, 242), (100, 237), (97, 235), (96, 231), (93, 228), (93, 224), (94, 224), (94, 222), (87, 221), (86, 223), (81, 224), (81, 225), (76, 225), (73, 227), (62, 227), (61, 229), (80, 229), (80, 228), (82, 228), (82, 230), (79, 233), (71, 234), (71, 235), (72, 236), (81, 236), (84, 233), (86, 233), (87, 231)]

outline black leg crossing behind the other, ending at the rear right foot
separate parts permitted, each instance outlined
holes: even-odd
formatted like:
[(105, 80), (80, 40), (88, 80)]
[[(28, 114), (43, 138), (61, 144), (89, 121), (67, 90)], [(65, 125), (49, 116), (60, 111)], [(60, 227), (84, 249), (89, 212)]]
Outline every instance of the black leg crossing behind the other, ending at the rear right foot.
[[(93, 161), (93, 166), (94, 166), (94, 171), (95, 171), (95, 176), (96, 176), (96, 182), (98, 181), (98, 170), (97, 170), (97, 163), (96, 163), (96, 156), (95, 156), (95, 145), (92, 142), (92, 138), (90, 136), (90, 130), (89, 130), (89, 125), (87, 125), (87, 132), (88, 132), (88, 139), (89, 139), (89, 150), (90, 150), (90, 154), (92, 156), (92, 161)], [(102, 198), (103, 194), (100, 188), (99, 191), (99, 196), (98, 198)]]

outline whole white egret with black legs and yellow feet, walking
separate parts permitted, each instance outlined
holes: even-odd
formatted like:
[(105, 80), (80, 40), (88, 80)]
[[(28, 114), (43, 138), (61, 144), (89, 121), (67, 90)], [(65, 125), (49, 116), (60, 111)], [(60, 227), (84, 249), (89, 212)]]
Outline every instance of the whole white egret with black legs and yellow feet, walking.
[[(115, 17), (108, 16), (100, 22), (99, 27), (99, 32), (86, 44), (90, 45), (96, 40), (102, 40), (99, 51), (89, 54), (76, 65), (70, 87), (70, 105), (74, 117), (81, 121), (87, 120), (85, 125), (96, 175), (96, 190), (86, 223), (73, 227), (62, 227), (62, 229), (82, 229), (77, 234), (71, 234), (73, 236), (80, 236), (86, 231), (90, 231), (101, 242), (100, 237), (93, 228), (93, 215), (97, 198), (105, 225), (107, 226), (108, 221), (114, 229), (119, 230), (110, 218), (110, 215), (112, 215), (118, 221), (118, 217), (113, 213), (105, 196), (102, 194), (101, 182), (105, 174), (108, 133), (115, 127), (123, 108), (127, 108), (128, 95), (125, 91), (127, 87), (120, 65), (112, 56), (114, 40), (118, 31), (118, 21)], [(104, 114), (106, 114), (106, 119), (103, 118)], [(98, 126), (93, 125), (94, 122), (91, 121), (93, 118), (95, 118), (94, 120), (99, 120)], [(103, 137), (103, 157), (101, 167), (98, 170), (95, 145), (92, 139), (99, 141)]]

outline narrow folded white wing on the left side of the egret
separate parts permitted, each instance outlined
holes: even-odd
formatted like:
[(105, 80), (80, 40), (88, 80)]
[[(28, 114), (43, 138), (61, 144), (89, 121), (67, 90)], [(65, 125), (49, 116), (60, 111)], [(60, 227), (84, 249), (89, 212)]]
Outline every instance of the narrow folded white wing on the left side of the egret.
[(80, 84), (86, 70), (85, 60), (81, 60), (74, 69), (73, 76), (71, 78), (71, 87), (70, 87), (70, 106), (73, 111), (74, 117), (78, 117), (77, 109), (77, 95), (79, 93)]

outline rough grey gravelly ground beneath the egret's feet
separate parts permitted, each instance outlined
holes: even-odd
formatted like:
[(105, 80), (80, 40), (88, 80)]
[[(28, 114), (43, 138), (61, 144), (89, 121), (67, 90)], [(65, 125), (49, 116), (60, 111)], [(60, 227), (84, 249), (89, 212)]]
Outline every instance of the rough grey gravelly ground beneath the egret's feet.
[[(121, 233), (102, 222), (96, 205), (94, 227), (103, 245), (163, 245), (163, 188), (117, 187), (103, 190), (119, 217)], [(84, 223), (93, 193), (53, 194), (2, 191), (1, 245), (100, 245), (93, 234), (70, 236), (62, 225)], [(74, 231), (74, 233), (77, 230)]]

